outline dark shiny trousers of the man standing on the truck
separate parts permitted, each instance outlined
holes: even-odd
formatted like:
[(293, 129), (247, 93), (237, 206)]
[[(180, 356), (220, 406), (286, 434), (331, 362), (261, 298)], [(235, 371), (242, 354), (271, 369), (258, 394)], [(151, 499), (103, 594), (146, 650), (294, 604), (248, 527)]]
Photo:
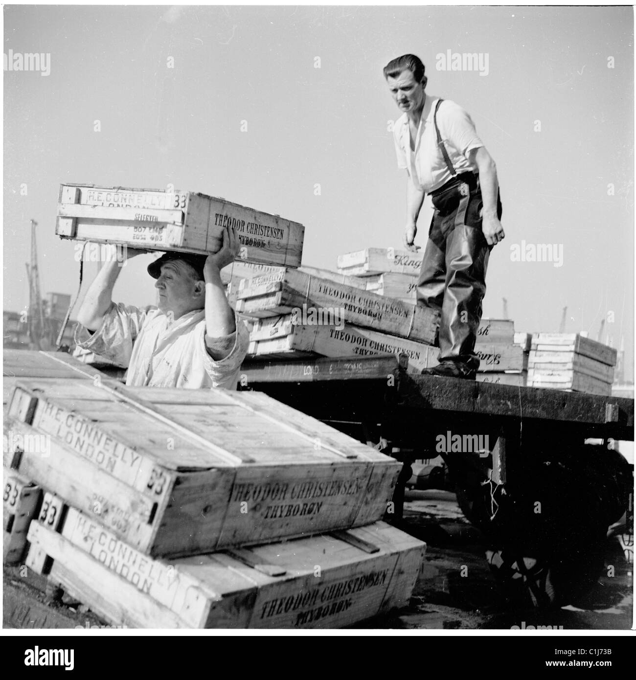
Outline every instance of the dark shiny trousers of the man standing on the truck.
[[(492, 245), (482, 233), (479, 177), (465, 173), (431, 194), (435, 213), (417, 286), (418, 305), (439, 309), (439, 360), (477, 370), (477, 330)], [(497, 197), (501, 219), (501, 201)]]

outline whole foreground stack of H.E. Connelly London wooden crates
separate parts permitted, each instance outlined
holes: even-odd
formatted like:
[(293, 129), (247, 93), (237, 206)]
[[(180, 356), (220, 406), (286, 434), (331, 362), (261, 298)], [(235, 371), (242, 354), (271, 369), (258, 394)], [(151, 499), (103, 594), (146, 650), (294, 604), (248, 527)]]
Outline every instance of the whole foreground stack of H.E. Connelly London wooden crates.
[(116, 626), (337, 628), (407, 604), (425, 546), (380, 521), (392, 458), (258, 392), (15, 354), (5, 561), (27, 551)]

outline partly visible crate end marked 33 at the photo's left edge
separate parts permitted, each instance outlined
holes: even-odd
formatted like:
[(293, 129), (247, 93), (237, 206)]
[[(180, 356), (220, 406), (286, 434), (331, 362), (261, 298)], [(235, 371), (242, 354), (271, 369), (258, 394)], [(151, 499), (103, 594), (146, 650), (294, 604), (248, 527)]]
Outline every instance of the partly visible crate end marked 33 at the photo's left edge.
[[(5, 432), (6, 436), (6, 432)], [(2, 561), (22, 561), (27, 547), (27, 530), (39, 511), (41, 489), (15, 471), (3, 468)]]

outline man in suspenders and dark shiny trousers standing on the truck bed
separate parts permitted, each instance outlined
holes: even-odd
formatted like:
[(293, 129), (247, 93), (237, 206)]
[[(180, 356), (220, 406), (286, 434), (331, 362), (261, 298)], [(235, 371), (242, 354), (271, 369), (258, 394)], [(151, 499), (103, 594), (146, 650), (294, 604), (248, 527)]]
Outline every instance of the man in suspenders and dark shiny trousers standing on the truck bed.
[(422, 373), (475, 379), (475, 340), (486, 293), (490, 250), (504, 237), (495, 161), (470, 116), (452, 101), (426, 95), (424, 64), (404, 54), (384, 67), (403, 115), (393, 137), (406, 169), (405, 246), (414, 245), (426, 193), (435, 213), (417, 285), (418, 305), (439, 309), (439, 365)]

